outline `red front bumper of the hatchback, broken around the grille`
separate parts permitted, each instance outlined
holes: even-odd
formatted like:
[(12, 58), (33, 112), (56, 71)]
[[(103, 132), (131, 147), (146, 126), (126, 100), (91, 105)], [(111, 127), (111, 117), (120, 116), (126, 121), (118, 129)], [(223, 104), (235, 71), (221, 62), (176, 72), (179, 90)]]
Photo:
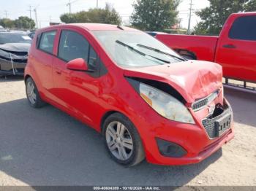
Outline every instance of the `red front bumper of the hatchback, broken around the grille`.
[[(227, 108), (222, 114), (214, 117), (211, 122), (219, 119), (228, 112), (232, 115), (230, 104), (225, 101)], [(159, 123), (159, 125), (157, 124)], [(160, 118), (153, 121), (147, 121), (147, 125), (151, 126), (150, 133), (143, 137), (143, 144), (146, 150), (146, 159), (149, 163), (159, 165), (186, 165), (199, 163), (206, 159), (218, 149), (233, 139), (233, 117), (230, 119), (230, 128), (226, 129), (221, 135), (210, 137), (203, 120), (197, 122), (196, 125), (184, 124), (181, 122), (173, 122)], [(155, 126), (154, 126), (155, 125)], [(149, 135), (149, 136), (148, 136)], [(159, 151), (159, 145), (156, 139), (170, 141), (184, 148), (187, 153), (182, 157), (167, 157)]]

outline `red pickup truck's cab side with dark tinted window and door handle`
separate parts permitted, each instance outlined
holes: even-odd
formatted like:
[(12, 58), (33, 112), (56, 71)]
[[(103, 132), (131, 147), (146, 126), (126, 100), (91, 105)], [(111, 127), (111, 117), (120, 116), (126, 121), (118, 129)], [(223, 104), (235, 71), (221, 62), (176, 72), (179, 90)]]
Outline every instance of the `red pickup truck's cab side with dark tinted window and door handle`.
[(230, 19), (233, 25), (219, 39), (216, 62), (225, 77), (256, 82), (256, 15)]

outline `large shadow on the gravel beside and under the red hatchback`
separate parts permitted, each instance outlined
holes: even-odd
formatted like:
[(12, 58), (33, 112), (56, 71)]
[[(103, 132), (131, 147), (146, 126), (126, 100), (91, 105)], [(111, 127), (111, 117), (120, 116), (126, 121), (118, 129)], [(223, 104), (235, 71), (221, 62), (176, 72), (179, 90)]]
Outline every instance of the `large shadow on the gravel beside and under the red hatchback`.
[(0, 104), (0, 124), (0, 171), (29, 185), (182, 186), (222, 156), (219, 149), (195, 165), (124, 168), (95, 130), (53, 106), (32, 109), (26, 99)]

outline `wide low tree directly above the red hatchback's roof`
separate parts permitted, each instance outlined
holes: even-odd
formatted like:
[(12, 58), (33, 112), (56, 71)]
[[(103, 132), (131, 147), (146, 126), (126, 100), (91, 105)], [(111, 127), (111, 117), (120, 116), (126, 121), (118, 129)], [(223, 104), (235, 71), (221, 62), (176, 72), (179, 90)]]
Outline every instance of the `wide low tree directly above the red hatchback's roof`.
[(76, 13), (66, 13), (60, 17), (63, 23), (108, 23), (121, 25), (121, 16), (116, 9), (106, 4), (105, 9), (89, 9)]

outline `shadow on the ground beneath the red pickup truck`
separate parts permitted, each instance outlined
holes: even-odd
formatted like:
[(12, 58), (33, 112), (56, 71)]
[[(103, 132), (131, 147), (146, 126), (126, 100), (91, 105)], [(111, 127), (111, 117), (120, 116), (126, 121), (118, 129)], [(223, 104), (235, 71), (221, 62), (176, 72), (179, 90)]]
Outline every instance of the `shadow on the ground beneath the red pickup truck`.
[(232, 106), (235, 122), (256, 127), (256, 92), (250, 93), (230, 87), (225, 87), (224, 92)]

